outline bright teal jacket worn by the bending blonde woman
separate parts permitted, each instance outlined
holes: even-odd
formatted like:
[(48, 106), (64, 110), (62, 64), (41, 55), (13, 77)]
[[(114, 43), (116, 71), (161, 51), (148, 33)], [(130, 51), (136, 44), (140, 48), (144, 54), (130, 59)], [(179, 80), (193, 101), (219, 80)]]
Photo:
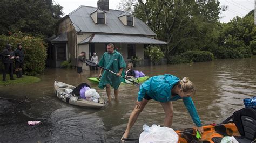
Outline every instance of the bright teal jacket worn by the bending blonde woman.
[[(171, 96), (171, 89), (174, 85), (178, 84), (179, 81), (180, 79), (178, 77), (169, 74), (153, 76), (140, 85), (138, 101), (142, 101), (145, 94), (159, 102), (177, 101), (181, 99), (181, 97), (179, 95)], [(198, 127), (202, 126), (192, 98), (183, 97), (182, 99), (194, 123)]]

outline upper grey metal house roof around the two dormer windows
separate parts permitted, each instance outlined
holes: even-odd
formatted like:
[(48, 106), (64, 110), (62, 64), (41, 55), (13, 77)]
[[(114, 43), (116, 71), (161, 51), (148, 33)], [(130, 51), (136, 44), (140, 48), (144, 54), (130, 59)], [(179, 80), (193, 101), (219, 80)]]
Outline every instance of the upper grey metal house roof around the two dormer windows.
[(106, 24), (96, 24), (93, 22), (90, 13), (97, 11), (98, 8), (90, 6), (80, 6), (75, 11), (69, 13), (70, 20), (76, 31), (91, 32), (91, 33), (111, 33), (111, 34), (136, 34), (136, 35), (152, 35), (154, 33), (149, 26), (142, 20), (134, 17), (134, 26), (125, 26), (118, 18), (124, 11), (109, 10), (105, 11)]

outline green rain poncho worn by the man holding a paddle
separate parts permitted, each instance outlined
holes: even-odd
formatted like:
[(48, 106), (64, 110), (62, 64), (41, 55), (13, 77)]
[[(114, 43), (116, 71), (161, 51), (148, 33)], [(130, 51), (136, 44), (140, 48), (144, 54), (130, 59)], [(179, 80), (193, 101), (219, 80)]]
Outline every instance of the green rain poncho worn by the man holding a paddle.
[[(109, 69), (114, 73), (118, 73), (120, 68), (126, 68), (126, 63), (123, 56), (115, 50), (112, 54), (105, 52), (102, 56), (102, 59), (99, 61), (99, 66)], [(124, 71), (125, 70), (123, 69), (123, 77), (125, 76)], [(99, 88), (103, 89), (107, 84), (110, 84), (114, 89), (118, 89), (121, 80), (123, 80), (121, 78), (122, 77), (118, 77), (117, 75), (104, 70), (102, 77), (100, 78)]]

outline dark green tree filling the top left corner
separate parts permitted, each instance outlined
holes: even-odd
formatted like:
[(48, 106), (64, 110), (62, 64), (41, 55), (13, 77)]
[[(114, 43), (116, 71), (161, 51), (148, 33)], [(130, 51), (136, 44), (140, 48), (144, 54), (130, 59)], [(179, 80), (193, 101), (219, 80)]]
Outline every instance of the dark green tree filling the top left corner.
[(51, 36), (56, 22), (63, 15), (62, 6), (52, 0), (0, 1), (0, 34), (23, 32)]

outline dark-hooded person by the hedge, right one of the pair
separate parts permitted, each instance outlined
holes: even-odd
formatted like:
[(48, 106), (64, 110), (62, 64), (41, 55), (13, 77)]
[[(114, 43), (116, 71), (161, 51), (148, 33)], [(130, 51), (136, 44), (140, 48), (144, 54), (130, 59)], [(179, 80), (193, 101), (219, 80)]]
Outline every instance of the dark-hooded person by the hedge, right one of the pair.
[(24, 51), (22, 49), (22, 44), (18, 43), (18, 47), (15, 49), (15, 73), (17, 78), (24, 77), (22, 76), (22, 68), (24, 65)]

